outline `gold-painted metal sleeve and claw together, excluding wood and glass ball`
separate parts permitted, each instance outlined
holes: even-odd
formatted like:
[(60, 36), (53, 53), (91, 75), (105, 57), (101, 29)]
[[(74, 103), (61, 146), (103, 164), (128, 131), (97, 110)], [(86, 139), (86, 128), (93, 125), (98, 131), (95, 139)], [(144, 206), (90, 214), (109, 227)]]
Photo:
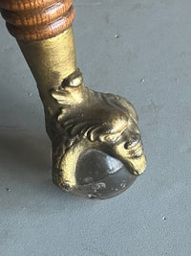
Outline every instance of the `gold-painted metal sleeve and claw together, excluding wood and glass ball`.
[(141, 175), (146, 159), (136, 110), (122, 97), (84, 85), (76, 68), (72, 27), (51, 39), (18, 43), (45, 107), (53, 143), (53, 182), (73, 191), (77, 160), (90, 149), (106, 152), (132, 175)]

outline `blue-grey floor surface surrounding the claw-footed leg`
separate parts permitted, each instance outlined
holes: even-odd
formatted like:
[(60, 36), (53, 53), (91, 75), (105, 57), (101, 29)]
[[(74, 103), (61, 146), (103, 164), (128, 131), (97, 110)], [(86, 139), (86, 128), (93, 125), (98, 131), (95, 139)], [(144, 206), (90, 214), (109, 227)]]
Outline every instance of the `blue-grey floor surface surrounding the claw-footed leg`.
[(52, 184), (35, 81), (0, 19), (0, 255), (191, 255), (191, 2), (74, 1), (91, 88), (137, 108), (148, 167), (118, 198)]

